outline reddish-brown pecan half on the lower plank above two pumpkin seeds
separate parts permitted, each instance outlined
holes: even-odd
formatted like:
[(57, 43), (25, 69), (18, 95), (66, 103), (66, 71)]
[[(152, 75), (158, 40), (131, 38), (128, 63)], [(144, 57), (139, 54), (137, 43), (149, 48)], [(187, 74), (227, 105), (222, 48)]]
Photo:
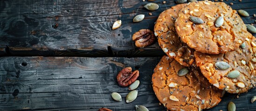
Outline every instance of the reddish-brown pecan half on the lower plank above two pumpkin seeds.
[(119, 86), (129, 86), (135, 80), (137, 80), (139, 75), (138, 70), (131, 72), (131, 67), (123, 68), (117, 75), (117, 80)]

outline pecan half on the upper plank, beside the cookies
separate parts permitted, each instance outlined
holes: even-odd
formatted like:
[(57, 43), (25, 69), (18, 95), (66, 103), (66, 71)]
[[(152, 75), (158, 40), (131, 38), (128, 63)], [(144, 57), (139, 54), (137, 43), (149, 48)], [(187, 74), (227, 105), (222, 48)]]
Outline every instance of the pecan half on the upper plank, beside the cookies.
[(154, 43), (156, 37), (153, 31), (149, 29), (141, 29), (132, 35), (132, 40), (135, 41), (136, 47), (144, 48)]

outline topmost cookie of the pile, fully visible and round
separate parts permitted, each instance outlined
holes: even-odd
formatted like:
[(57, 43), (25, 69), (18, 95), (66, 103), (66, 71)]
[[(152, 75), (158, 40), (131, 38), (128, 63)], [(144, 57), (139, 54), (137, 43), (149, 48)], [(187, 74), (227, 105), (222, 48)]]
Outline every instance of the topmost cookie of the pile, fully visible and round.
[[(202, 19), (203, 24), (195, 24), (190, 16)], [(215, 20), (221, 16), (224, 23), (216, 27)], [(235, 50), (247, 36), (242, 19), (224, 2), (205, 0), (190, 3), (180, 10), (175, 27), (181, 40), (190, 48), (208, 54)]]

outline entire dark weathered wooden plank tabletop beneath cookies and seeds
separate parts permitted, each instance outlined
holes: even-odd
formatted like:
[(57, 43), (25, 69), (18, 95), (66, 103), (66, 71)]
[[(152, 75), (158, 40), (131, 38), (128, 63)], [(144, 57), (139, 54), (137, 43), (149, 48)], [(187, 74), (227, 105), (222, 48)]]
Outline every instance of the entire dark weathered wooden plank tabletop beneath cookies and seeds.
[[(131, 40), (140, 29), (153, 30), (159, 13), (176, 5), (173, 0), (153, 1), (157, 11), (142, 0), (0, 0), (0, 110), (135, 111), (144, 105), (164, 111), (151, 85), (153, 68), (164, 55), (158, 43), (136, 48)], [(228, 0), (235, 10), (249, 12), (245, 24), (255, 24), (256, 0)], [(148, 15), (151, 12), (152, 16)], [(133, 23), (138, 14), (145, 19)], [(122, 25), (111, 30), (114, 21)], [(256, 36), (256, 34), (254, 34)], [(125, 67), (139, 70), (138, 97), (125, 103), (128, 87), (118, 86), (116, 75)], [(118, 92), (122, 101), (111, 98)], [(256, 111), (248, 93), (226, 93), (209, 111)]]

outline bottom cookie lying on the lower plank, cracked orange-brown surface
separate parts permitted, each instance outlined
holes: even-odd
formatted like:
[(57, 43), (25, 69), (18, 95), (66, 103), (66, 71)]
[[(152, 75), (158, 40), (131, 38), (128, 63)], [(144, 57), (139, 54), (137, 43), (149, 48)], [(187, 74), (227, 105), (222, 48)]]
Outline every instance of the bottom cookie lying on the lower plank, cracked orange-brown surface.
[(218, 105), (220, 90), (212, 86), (196, 69), (184, 76), (173, 58), (163, 56), (152, 75), (152, 87), (159, 101), (171, 111), (201, 111)]

